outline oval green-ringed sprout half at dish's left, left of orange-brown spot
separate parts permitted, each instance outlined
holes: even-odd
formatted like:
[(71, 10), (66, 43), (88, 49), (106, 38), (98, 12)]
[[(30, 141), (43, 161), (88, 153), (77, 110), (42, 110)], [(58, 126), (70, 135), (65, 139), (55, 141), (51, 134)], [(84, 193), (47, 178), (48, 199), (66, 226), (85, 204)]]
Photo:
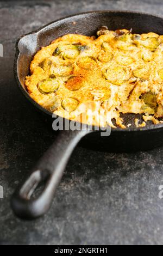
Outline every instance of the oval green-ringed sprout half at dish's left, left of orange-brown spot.
[(59, 86), (60, 86), (60, 83), (56, 78), (54, 79), (49, 78), (48, 80), (39, 82), (37, 85), (37, 88), (41, 93), (48, 94), (48, 93), (56, 92)]

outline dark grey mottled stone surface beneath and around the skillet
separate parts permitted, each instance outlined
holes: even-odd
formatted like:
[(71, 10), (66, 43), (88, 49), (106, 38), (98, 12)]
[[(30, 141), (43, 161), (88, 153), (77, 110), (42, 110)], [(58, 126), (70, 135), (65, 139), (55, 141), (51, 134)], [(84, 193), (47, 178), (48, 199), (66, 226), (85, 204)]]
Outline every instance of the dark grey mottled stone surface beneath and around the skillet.
[(87, 10), (128, 9), (163, 14), (162, 0), (0, 2), (0, 243), (28, 245), (162, 244), (163, 147), (135, 154), (78, 147), (67, 165), (48, 214), (18, 220), (10, 196), (55, 138), (46, 120), (16, 87), (15, 41), (46, 23)]

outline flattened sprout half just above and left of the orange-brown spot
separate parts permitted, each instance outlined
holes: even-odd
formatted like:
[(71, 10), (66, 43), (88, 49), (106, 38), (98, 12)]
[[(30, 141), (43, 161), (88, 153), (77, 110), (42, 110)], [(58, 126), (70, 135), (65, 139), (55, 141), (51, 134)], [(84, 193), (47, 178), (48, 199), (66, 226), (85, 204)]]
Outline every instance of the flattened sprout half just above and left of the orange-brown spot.
[[(71, 65), (52, 65), (51, 73), (55, 76), (70, 76), (73, 73)], [(51, 75), (52, 75), (51, 74)]]

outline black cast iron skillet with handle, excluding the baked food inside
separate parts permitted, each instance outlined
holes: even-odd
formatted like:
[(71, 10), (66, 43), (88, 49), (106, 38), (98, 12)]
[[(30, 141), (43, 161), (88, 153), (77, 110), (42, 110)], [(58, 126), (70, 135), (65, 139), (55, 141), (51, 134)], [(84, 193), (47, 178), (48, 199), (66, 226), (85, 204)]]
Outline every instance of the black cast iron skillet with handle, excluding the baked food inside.
[[(51, 121), (52, 113), (38, 105), (24, 88), (24, 80), (29, 74), (29, 65), (34, 54), (41, 46), (47, 46), (59, 36), (68, 33), (96, 35), (97, 30), (103, 25), (111, 30), (133, 28), (134, 33), (163, 34), (161, 17), (128, 11), (92, 11), (49, 23), (37, 31), (23, 35), (17, 41), (14, 74), (18, 87), (36, 109), (51, 117)], [(124, 115), (124, 123), (132, 125), (125, 130), (111, 129), (111, 135), (108, 137), (101, 137), (100, 131), (92, 132), (86, 127), (81, 131), (60, 131), (57, 139), (33, 168), (28, 179), (13, 194), (11, 206), (15, 214), (21, 218), (32, 219), (47, 212), (66, 163), (74, 147), (84, 136), (86, 139), (82, 139), (82, 143), (86, 147), (106, 151), (145, 150), (162, 144), (163, 124), (148, 123), (146, 127), (136, 128), (134, 119), (134, 114)], [(33, 197), (36, 187), (42, 181), (45, 182), (43, 191), (39, 196)]]

